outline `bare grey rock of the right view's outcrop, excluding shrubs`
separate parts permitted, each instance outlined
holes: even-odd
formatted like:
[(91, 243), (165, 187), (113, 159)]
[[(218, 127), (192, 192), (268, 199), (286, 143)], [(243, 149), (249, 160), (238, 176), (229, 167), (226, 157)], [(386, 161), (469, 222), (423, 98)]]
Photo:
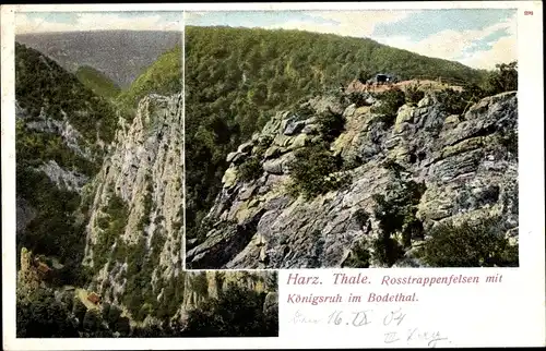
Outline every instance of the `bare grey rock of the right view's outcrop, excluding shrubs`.
[[(363, 105), (379, 104), (369, 96)], [(224, 189), (201, 237), (187, 244), (187, 265), (347, 266), (358, 247), (384, 231), (378, 194), (391, 207), (408, 193), (416, 201), (411, 242), (395, 266), (424, 266), (412, 253), (429, 239), (431, 228), (447, 221), (456, 225), (500, 215), (501, 234), (517, 245), (517, 107), (512, 92), (484, 98), (465, 113), (449, 114), (429, 93), (418, 104), (402, 106), (393, 123), (379, 119), (369, 106), (357, 108), (329, 97), (301, 106), (311, 111), (304, 118), (280, 112), (228, 155)], [(345, 118), (345, 129), (330, 149), (342, 158), (341, 173), (351, 181), (310, 199), (290, 196), (286, 185), (293, 181), (295, 152), (318, 138), (317, 116), (324, 110)], [(259, 177), (242, 180), (241, 167), (250, 158), (260, 160)], [(381, 264), (371, 261), (370, 266)]]

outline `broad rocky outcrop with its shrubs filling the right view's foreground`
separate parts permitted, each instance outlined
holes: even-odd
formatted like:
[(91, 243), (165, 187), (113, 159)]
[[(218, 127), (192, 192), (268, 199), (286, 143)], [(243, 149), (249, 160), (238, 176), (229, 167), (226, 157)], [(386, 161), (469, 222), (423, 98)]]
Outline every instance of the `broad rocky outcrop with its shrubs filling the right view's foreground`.
[(517, 93), (415, 96), (278, 112), (227, 156), (187, 266), (517, 266)]

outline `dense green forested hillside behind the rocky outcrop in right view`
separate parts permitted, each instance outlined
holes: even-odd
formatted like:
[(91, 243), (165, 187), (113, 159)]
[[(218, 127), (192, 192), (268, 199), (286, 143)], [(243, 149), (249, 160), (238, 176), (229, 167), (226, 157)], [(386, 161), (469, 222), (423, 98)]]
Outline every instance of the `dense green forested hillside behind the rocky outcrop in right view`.
[(380, 72), (480, 84), (484, 72), (371, 39), (299, 31), (186, 28), (187, 238), (218, 193), (226, 155), (278, 110)]

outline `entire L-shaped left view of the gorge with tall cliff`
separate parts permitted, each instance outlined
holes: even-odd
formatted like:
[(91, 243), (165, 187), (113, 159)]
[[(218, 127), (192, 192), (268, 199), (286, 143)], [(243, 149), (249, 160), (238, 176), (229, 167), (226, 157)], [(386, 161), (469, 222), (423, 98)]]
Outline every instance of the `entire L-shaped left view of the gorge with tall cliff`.
[(183, 270), (183, 13), (17, 12), (13, 59), (16, 337), (278, 336), (275, 271)]

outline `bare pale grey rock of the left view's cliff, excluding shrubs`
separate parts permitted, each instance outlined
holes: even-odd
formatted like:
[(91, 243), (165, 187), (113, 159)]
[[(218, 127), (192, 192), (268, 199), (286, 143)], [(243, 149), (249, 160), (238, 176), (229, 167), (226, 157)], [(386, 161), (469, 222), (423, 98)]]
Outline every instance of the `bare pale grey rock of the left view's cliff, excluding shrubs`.
[[(119, 233), (118, 240), (131, 244), (142, 237), (151, 242), (154, 235), (162, 235), (164, 244), (157, 253), (159, 259), (154, 276), (168, 279), (183, 268), (181, 125), (181, 94), (171, 97), (150, 95), (140, 101), (133, 121), (117, 131), (109, 157), (88, 184), (92, 205), (86, 229), (85, 265), (94, 265), (93, 250), (103, 234), (96, 219), (104, 216), (111, 194), (116, 194), (129, 209), (124, 231)], [(149, 225), (140, 228), (143, 218)], [(95, 281), (102, 285), (109, 280), (114, 291), (119, 292), (123, 282), (119, 273), (111, 270), (114, 268), (103, 269)]]

